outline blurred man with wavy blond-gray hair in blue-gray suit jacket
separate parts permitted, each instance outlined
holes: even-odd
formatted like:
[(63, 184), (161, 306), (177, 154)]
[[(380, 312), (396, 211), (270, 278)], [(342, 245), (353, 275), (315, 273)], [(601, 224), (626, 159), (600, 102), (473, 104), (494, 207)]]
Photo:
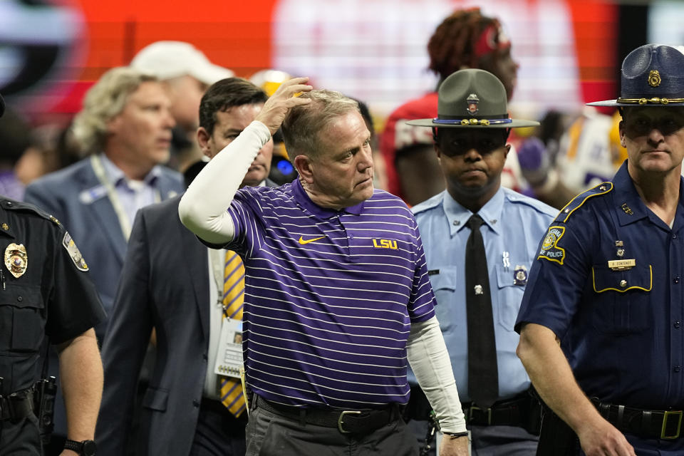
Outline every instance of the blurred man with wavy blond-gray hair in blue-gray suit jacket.
[[(154, 76), (113, 68), (88, 90), (74, 120), (73, 133), (90, 155), (26, 188), (26, 202), (69, 227), (107, 314), (135, 212), (182, 192), (182, 176), (160, 166), (169, 158), (173, 125), (170, 101)], [(100, 342), (105, 328), (106, 321), (95, 326)], [(51, 375), (56, 366), (53, 355)], [(61, 449), (63, 435), (66, 418), (58, 398), (51, 447)]]

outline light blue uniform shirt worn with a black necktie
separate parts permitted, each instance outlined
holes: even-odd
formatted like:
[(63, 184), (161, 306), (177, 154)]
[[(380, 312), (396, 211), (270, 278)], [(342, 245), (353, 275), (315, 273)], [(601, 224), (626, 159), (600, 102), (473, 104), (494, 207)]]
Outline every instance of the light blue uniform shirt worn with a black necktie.
[[(460, 399), (467, 402), (470, 398), (464, 266), (465, 244), (470, 236), (466, 222), (472, 212), (446, 191), (413, 207), (413, 212), (437, 297), (435, 313), (449, 350)], [(529, 387), (527, 373), (515, 354), (519, 336), (513, 326), (537, 245), (557, 212), (504, 187), (478, 212), (484, 219), (480, 230), (492, 290), (499, 398), (512, 397)], [(415, 378), (411, 380), (415, 383)]]

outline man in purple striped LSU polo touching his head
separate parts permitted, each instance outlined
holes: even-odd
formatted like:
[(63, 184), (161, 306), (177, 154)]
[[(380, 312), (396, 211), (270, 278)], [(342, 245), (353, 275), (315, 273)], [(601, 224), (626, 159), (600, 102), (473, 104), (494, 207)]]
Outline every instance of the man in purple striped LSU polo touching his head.
[[(400, 418), (408, 360), (447, 435), (440, 455), (465, 456), (415, 219), (398, 197), (373, 190), (358, 103), (307, 82), (284, 83), (179, 206), (204, 242), (244, 260), (247, 455), (414, 456)], [(237, 191), (281, 124), (299, 178)]]

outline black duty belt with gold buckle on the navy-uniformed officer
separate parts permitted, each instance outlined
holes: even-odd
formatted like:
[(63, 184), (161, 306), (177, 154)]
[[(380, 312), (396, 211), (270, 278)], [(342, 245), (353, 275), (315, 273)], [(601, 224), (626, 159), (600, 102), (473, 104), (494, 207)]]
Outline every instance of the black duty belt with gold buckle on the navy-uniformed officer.
[(646, 438), (673, 440), (682, 435), (682, 410), (642, 410), (591, 398), (603, 418), (618, 430)]

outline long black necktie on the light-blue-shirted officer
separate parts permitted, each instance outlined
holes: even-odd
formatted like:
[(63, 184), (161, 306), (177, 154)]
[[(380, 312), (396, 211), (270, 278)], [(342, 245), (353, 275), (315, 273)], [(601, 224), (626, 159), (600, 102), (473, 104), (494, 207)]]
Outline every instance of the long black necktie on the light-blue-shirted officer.
[(468, 318), (468, 395), (473, 403), (487, 408), (499, 397), (499, 370), (487, 256), (480, 233), (482, 223), (482, 217), (478, 214), (473, 214), (467, 222), (470, 236), (465, 244), (465, 302)]

